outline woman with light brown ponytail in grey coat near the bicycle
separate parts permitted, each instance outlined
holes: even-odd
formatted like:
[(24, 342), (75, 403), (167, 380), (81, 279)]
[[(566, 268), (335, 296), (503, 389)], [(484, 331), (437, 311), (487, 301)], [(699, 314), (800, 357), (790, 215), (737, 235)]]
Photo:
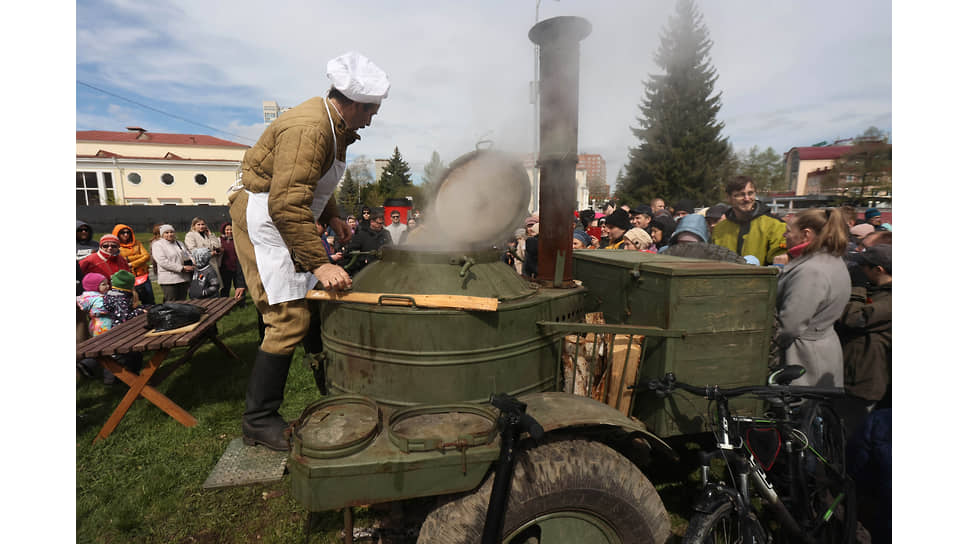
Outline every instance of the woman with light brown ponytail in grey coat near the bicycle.
[(810, 209), (787, 223), (784, 236), (791, 261), (777, 283), (782, 361), (807, 369), (794, 385), (843, 387), (844, 355), (834, 323), (850, 301), (847, 221), (839, 209)]

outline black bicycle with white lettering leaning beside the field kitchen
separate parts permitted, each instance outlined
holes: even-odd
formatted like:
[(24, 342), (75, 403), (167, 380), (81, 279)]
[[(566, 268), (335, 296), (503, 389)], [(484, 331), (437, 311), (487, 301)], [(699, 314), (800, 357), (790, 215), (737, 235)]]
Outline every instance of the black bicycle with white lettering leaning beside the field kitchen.
[[(647, 389), (659, 396), (678, 389), (717, 407), (716, 446), (700, 455), (703, 491), (685, 544), (854, 541), (857, 504), (846, 472), (846, 440), (840, 418), (827, 404), (844, 391), (789, 385), (804, 372), (802, 366), (788, 366), (772, 373), (768, 385), (731, 389), (678, 382), (672, 373), (648, 382)], [(733, 415), (729, 399), (740, 395), (762, 398), (770, 408), (763, 417)], [(731, 483), (710, 480), (715, 457), (725, 460)], [(767, 513), (779, 526), (776, 534), (760, 520)]]

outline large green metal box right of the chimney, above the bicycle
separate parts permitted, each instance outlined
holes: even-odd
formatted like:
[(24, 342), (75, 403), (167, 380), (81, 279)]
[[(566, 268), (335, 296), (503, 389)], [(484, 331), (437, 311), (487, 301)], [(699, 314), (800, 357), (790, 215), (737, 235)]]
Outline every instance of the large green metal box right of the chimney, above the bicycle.
[[(773, 267), (639, 251), (574, 252), (575, 279), (588, 290), (586, 312), (602, 312), (609, 324), (682, 331), (681, 337), (648, 339), (640, 386), (666, 372), (696, 385), (765, 383), (776, 275)], [(743, 398), (730, 407), (752, 415), (762, 403)], [(706, 402), (691, 395), (638, 393), (631, 415), (659, 436), (708, 430)]]

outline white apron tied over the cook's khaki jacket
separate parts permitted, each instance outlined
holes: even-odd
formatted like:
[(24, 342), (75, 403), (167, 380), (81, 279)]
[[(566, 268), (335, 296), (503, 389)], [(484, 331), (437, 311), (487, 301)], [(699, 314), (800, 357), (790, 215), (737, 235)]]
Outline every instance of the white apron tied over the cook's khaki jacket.
[[(326, 113), (329, 116), (329, 128), (333, 133), (335, 154), (338, 151), (335, 149), (336, 128), (333, 126), (333, 118), (329, 115), (328, 106), (324, 105), (324, 107), (327, 107)], [(314, 218), (318, 218), (323, 212), (344, 170), (346, 170), (346, 161), (334, 158), (333, 166), (316, 182), (316, 191), (313, 193), (313, 202), (310, 205)], [(255, 249), (256, 266), (259, 268), (259, 277), (262, 279), (262, 287), (266, 291), (269, 304), (305, 298), (306, 293), (316, 285), (316, 276), (312, 272), (296, 272), (289, 247), (286, 246), (282, 235), (269, 217), (269, 193), (246, 192), (249, 193), (249, 203), (245, 210), (249, 240), (252, 241)]]

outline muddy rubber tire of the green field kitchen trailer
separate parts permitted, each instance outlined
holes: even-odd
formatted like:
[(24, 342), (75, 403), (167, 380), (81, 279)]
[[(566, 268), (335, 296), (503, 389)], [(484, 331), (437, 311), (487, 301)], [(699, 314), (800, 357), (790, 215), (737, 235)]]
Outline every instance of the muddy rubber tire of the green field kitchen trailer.
[[(418, 544), (479, 544), (494, 472), (474, 491), (441, 499), (420, 528)], [(662, 543), (669, 515), (651, 482), (631, 461), (599, 442), (562, 439), (518, 453), (502, 539), (531, 520), (578, 510), (611, 527), (622, 542)], [(577, 542), (576, 542), (577, 544)]]

